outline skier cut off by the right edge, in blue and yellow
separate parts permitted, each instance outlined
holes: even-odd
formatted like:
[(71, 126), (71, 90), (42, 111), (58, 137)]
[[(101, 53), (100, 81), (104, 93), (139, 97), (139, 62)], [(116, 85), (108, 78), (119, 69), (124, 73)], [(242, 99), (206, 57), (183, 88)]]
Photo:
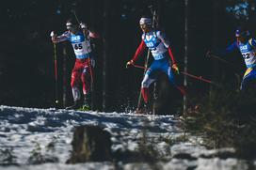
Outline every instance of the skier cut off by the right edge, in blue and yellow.
[(256, 39), (251, 38), (248, 30), (243, 28), (235, 30), (235, 38), (236, 40), (226, 48), (224, 54), (238, 49), (243, 55), (247, 70), (240, 89), (244, 90), (248, 88), (248, 83), (256, 81)]

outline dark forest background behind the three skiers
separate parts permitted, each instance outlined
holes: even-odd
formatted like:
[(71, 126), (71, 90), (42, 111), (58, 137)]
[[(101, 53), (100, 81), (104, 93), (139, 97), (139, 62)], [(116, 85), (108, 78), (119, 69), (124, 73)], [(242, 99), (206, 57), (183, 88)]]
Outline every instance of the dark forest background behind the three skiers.
[[(242, 13), (232, 10), (239, 3), (248, 3), (248, 8), (241, 9)], [(187, 7), (183, 0), (6, 1), (0, 7), (0, 104), (63, 108), (72, 103), (72, 47), (69, 42), (56, 45), (57, 98), (60, 101), (56, 105), (54, 46), (50, 33), (53, 30), (63, 33), (67, 19), (74, 17), (73, 11), (90, 30), (101, 36), (94, 42), (95, 110), (124, 112), (136, 108), (143, 70), (126, 69), (125, 64), (133, 57), (141, 40), (138, 21), (141, 16), (152, 17), (151, 9), (156, 10), (157, 26), (168, 36), (180, 70), (184, 70), (186, 44), (188, 72), (235, 91), (246, 70), (241, 54), (223, 56), (238, 68), (207, 58), (205, 54), (232, 43), (234, 30), (239, 25), (246, 25), (254, 36), (255, 4), (252, 0), (188, 0)], [(146, 54), (136, 64), (143, 66)], [(165, 77), (161, 81), (164, 80)], [(158, 86), (161, 88), (161, 83)], [(215, 86), (188, 77), (186, 88), (189, 100), (209, 94)], [(183, 99), (171, 85), (164, 95), (167, 95), (161, 100), (164, 110), (170, 105), (182, 107)]]

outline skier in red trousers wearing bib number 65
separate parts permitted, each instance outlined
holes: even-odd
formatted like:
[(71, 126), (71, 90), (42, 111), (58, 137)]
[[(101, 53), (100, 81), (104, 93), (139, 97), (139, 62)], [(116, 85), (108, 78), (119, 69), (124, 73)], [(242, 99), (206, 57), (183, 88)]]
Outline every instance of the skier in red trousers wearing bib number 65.
[[(99, 36), (88, 31), (85, 23), (76, 25), (69, 20), (66, 23), (68, 31), (60, 36), (56, 36), (54, 32), (51, 33), (52, 41), (54, 43), (69, 40), (72, 43), (73, 52), (75, 54), (75, 64), (72, 69), (72, 97), (74, 103), (66, 109), (78, 109), (81, 107), (80, 99), (81, 92), (79, 85), (82, 82), (84, 94), (84, 109), (89, 109), (90, 100), (90, 81), (92, 78), (92, 70), (95, 62), (92, 56), (90, 38), (98, 38)], [(79, 28), (80, 27), (80, 28)]]

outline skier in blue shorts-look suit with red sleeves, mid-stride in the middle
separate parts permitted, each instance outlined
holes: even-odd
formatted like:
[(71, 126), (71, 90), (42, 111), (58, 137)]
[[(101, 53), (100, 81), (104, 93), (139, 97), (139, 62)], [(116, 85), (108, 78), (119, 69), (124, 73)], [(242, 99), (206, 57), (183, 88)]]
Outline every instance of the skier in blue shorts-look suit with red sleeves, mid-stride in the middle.
[(126, 63), (126, 67), (133, 66), (138, 56), (140, 56), (147, 47), (150, 49), (153, 62), (151, 67), (146, 71), (141, 83), (141, 94), (146, 105), (145, 107), (148, 107), (149, 87), (156, 80), (154, 75), (155, 71), (162, 71), (167, 74), (168, 81), (171, 85), (176, 87), (184, 95), (186, 93), (184, 86), (179, 85), (174, 78), (173, 70), (179, 74), (179, 68), (165, 34), (152, 28), (152, 20), (150, 18), (142, 17), (139, 21), (139, 25), (143, 31), (141, 42), (136, 49), (134, 57)]

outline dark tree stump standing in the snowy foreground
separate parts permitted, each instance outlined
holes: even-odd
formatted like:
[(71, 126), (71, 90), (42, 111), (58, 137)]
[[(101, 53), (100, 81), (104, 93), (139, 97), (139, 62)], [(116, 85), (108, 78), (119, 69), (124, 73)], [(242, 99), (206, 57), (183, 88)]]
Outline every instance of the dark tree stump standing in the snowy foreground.
[(110, 137), (110, 133), (100, 127), (77, 127), (72, 138), (72, 156), (67, 163), (110, 161)]

